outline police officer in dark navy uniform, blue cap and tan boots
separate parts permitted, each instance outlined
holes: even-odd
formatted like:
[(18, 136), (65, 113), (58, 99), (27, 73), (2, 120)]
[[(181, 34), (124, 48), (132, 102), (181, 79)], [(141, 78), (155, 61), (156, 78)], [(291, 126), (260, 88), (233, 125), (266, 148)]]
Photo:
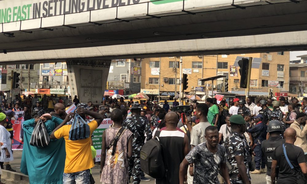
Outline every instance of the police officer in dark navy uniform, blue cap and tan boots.
[[(254, 139), (254, 153), (255, 155), (255, 171), (252, 171), (251, 174), (262, 174), (265, 173), (264, 168), (266, 167), (266, 162), (264, 159), (264, 155), (262, 155), (261, 151), (261, 143), (263, 140), (266, 140), (266, 124), (261, 121), (262, 115), (259, 113), (257, 116), (254, 117), (256, 121), (256, 125), (249, 128), (247, 130), (248, 133), (251, 133)], [(261, 167), (261, 169), (260, 169)]]

